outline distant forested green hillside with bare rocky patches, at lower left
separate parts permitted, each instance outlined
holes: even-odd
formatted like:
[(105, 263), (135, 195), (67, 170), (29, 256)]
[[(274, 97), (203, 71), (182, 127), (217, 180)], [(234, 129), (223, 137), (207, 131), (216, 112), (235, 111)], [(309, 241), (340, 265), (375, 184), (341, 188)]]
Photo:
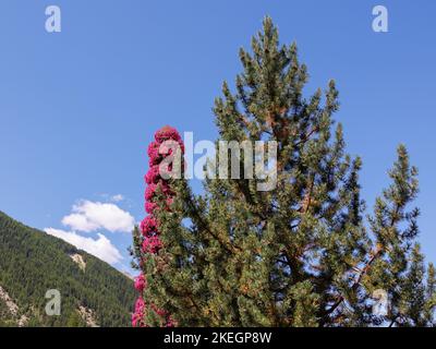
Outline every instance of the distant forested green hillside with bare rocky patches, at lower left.
[[(46, 314), (49, 289), (59, 316)], [(135, 296), (121, 272), (0, 212), (0, 326), (130, 326)]]

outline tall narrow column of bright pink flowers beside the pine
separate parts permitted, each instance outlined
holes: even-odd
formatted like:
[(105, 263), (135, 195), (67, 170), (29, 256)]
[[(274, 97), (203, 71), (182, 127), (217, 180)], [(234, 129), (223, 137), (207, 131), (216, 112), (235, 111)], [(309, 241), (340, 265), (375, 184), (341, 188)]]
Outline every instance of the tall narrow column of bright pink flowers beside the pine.
[(135, 288), (140, 296), (132, 315), (134, 327), (161, 326), (172, 327), (174, 321), (166, 304), (156, 304), (153, 293), (156, 292), (154, 280), (164, 273), (166, 265), (165, 246), (159, 229), (160, 213), (169, 213), (174, 201), (171, 190), (173, 179), (181, 178), (181, 159), (184, 145), (179, 132), (164, 127), (155, 134), (155, 141), (148, 146), (148, 171), (144, 179), (145, 212), (147, 216), (134, 231), (134, 264), (141, 269), (135, 279)]

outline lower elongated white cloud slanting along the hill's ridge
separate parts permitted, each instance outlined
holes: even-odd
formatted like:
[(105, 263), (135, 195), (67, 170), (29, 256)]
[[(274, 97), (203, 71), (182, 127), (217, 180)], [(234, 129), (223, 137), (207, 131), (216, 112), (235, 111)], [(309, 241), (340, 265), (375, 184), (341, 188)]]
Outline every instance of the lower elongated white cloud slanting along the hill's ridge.
[(109, 264), (114, 264), (123, 258), (120, 251), (118, 251), (110, 240), (101, 233), (97, 233), (98, 239), (93, 239), (81, 237), (74, 231), (64, 231), (53, 228), (46, 228), (44, 230), (48, 234), (62, 239)]

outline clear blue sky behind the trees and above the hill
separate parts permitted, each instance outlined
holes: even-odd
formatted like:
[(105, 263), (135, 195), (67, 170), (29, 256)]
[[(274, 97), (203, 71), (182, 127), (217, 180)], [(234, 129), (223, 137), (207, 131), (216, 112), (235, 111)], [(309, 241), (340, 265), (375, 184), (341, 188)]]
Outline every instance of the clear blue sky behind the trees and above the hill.
[[(61, 33), (45, 31), (49, 4), (62, 11)], [(389, 33), (372, 31), (376, 4), (389, 11)], [(420, 241), (436, 262), (431, 0), (2, 0), (0, 209), (40, 229), (71, 229), (62, 220), (87, 202), (140, 220), (154, 131), (171, 124), (196, 141), (216, 137), (213, 100), (223, 80), (233, 82), (238, 49), (266, 14), (282, 43), (296, 40), (307, 93), (337, 81), (336, 119), (349, 152), (363, 158), (368, 208), (387, 185), (397, 145), (408, 146), (420, 169)], [(111, 200), (118, 194), (123, 200)], [(121, 230), (94, 224), (76, 233), (96, 241), (101, 233), (123, 256), (114, 265), (128, 268), (129, 219)]]

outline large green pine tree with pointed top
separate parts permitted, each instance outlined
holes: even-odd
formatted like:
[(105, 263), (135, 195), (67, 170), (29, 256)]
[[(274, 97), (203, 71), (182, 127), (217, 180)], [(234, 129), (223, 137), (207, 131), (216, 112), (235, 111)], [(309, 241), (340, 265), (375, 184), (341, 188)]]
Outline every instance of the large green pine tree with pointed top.
[[(332, 119), (335, 82), (304, 97), (306, 67), (269, 17), (240, 59), (235, 92), (225, 83), (215, 101), (219, 141), (277, 142), (277, 185), (206, 179), (194, 195), (185, 180), (169, 180), (171, 208), (156, 213), (161, 249), (138, 263), (147, 265), (145, 301), (181, 326), (434, 325), (435, 270), (425, 274), (415, 244), (416, 169), (405, 148), (367, 224), (361, 159), (346, 154)], [(377, 290), (386, 314), (373, 313)]]

